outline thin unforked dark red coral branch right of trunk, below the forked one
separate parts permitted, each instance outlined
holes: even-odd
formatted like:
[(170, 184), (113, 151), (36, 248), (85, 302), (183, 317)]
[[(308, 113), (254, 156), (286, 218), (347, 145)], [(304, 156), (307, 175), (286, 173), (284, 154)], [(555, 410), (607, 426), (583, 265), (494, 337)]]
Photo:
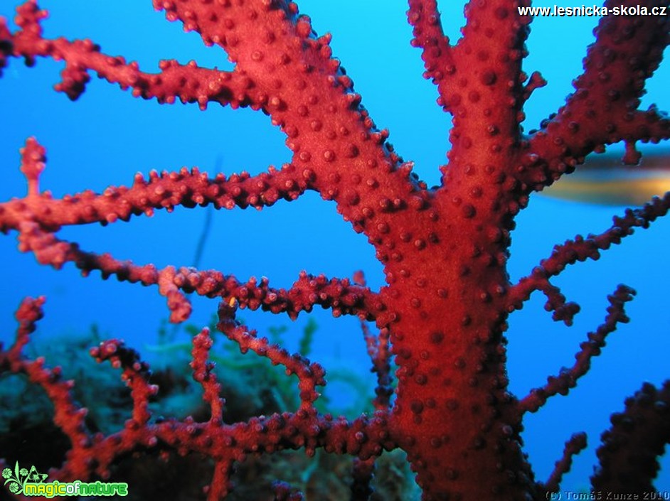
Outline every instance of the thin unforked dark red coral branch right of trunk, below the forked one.
[(607, 308), (605, 322), (600, 324), (595, 333), (587, 335), (588, 340), (580, 345), (580, 351), (575, 355), (575, 365), (567, 369), (563, 367), (557, 376), (547, 378), (547, 384), (541, 388), (532, 389), (527, 397), (519, 402), (522, 412), (535, 412), (545, 404), (548, 398), (556, 394), (567, 395), (571, 388), (577, 385), (577, 380), (585, 375), (591, 367), (592, 357), (600, 355), (605, 346), (605, 338), (614, 332), (617, 323), (627, 323), (628, 317), (624, 313), (624, 304), (631, 301), (635, 291), (627, 286), (617, 287), (612, 296), (608, 296), (610, 306)]

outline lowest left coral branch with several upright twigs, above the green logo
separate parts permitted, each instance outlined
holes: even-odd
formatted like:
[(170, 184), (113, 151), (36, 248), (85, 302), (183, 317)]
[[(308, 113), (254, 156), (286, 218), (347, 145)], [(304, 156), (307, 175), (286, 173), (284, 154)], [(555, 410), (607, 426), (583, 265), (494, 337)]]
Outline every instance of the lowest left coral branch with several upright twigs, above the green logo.
[(31, 382), (43, 387), (53, 402), (54, 422), (70, 439), (70, 450), (63, 467), (50, 472), (55, 478), (86, 481), (94, 473), (108, 478), (111, 465), (133, 452), (158, 449), (176, 450), (182, 455), (201, 453), (216, 463), (213, 480), (207, 489), (208, 500), (213, 501), (225, 496), (231, 487), (234, 463), (249, 453), (306, 448), (307, 453), (313, 455), (316, 448), (325, 448), (331, 453), (349, 453), (368, 460), (381, 454), (383, 448), (394, 446), (384, 431), (388, 419), (385, 413), (378, 412), (372, 418), (361, 416), (355, 421), (317, 414), (312, 402), (317, 397), (316, 385), (325, 384), (324, 371), (316, 364), (308, 364), (302, 357), (267, 345), (240, 328), (231, 317), (234, 308), (225, 303), (220, 309), (220, 326), (240, 344), (240, 350), (250, 349), (267, 356), (272, 362), (285, 365), (289, 373), (298, 375), (302, 404), (295, 413), (285, 412), (223, 425), (218, 419), (221, 410), (218, 384), (211, 375), (211, 363), (206, 360), (211, 338), (208, 331), (203, 330), (193, 340), (193, 377), (203, 384), (203, 399), (211, 406), (211, 419), (198, 423), (186, 417), (183, 421), (168, 419), (151, 423), (147, 403), (158, 387), (149, 384), (149, 366), (121, 341), (108, 340), (92, 348), (90, 354), (98, 362), (107, 360), (122, 369), (122, 379), (131, 389), (132, 419), (117, 433), (91, 436), (84, 423), (87, 411), (78, 407), (70, 394), (73, 382), (61, 381), (58, 367), (47, 369), (43, 367), (43, 359), (28, 360), (21, 354), (28, 334), (42, 316), (42, 303), (43, 299), (38, 298), (26, 299), (21, 304), (16, 314), (20, 325), (16, 343), (7, 351), (0, 350), (0, 373), (27, 375)]

